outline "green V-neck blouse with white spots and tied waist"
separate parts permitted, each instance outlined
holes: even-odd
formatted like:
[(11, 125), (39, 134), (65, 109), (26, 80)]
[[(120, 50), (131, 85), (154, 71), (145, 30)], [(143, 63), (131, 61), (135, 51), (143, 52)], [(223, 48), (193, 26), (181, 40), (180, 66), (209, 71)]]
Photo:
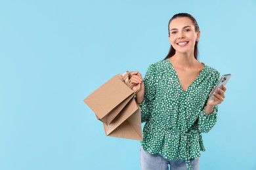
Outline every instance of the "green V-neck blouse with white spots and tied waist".
[(188, 160), (205, 151), (202, 133), (217, 122), (218, 105), (209, 115), (205, 108), (219, 78), (219, 71), (204, 64), (184, 91), (169, 59), (150, 65), (144, 77), (144, 101), (139, 104), (142, 122), (146, 122), (141, 142), (144, 150), (168, 160), (186, 160), (191, 169)]

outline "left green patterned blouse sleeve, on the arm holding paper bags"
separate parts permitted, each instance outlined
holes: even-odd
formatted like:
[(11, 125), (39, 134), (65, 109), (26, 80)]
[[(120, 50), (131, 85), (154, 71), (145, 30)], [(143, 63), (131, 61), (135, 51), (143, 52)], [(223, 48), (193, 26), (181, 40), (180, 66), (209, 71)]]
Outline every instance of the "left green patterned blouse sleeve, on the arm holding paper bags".
[(148, 118), (150, 118), (152, 112), (152, 105), (156, 95), (156, 74), (154, 65), (150, 65), (148, 70), (146, 71), (146, 75), (144, 77), (144, 100), (139, 104), (141, 109), (141, 122), (146, 122)]

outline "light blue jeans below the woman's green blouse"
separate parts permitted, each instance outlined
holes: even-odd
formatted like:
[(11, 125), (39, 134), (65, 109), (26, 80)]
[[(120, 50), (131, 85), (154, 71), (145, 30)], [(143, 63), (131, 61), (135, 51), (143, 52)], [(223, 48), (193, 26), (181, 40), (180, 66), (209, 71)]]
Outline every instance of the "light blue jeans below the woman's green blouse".
[[(199, 170), (199, 158), (190, 159), (193, 170)], [(160, 154), (148, 153), (140, 146), (140, 167), (141, 170), (187, 170), (185, 160), (167, 160)]]

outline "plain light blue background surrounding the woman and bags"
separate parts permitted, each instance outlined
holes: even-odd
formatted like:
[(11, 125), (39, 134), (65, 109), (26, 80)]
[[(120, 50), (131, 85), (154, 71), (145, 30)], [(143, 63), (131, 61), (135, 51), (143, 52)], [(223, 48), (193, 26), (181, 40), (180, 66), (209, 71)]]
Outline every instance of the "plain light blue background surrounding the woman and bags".
[(200, 61), (231, 73), (201, 169), (256, 169), (256, 1), (1, 1), (0, 169), (140, 169), (139, 141), (106, 137), (83, 99), (169, 50), (173, 14)]

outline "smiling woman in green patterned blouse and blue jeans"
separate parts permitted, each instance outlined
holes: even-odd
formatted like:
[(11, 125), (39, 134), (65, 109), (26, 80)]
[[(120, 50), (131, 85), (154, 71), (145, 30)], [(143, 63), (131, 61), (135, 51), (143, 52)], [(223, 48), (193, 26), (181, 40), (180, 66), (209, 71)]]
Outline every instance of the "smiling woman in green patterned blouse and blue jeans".
[(215, 125), (226, 87), (207, 102), (220, 73), (197, 60), (200, 30), (193, 16), (175, 14), (168, 31), (167, 57), (150, 65), (144, 80), (133, 72), (130, 82), (141, 85), (136, 100), (146, 122), (141, 168), (199, 169), (200, 151), (205, 151), (202, 133)]

